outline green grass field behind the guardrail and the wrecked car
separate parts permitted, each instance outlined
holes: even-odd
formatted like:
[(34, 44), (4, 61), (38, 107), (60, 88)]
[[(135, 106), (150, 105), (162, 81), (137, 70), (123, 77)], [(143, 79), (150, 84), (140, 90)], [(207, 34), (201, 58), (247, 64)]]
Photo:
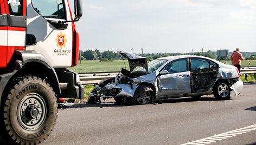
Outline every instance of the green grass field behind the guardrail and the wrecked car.
[[(125, 68), (129, 70), (129, 63), (127, 60), (115, 60), (112, 62), (100, 62), (100, 61), (80, 61), (78, 62), (78, 65), (76, 65), (73, 68), (69, 68), (76, 73), (95, 73), (95, 72), (106, 72), (106, 71), (121, 71), (121, 68)], [(221, 61), (222, 63), (225, 63), (225, 61)], [(242, 61), (242, 67), (248, 67), (249, 62), (251, 62), (251, 66), (256, 66), (256, 60), (255, 61)], [(231, 61), (227, 61), (227, 64), (230, 64)]]

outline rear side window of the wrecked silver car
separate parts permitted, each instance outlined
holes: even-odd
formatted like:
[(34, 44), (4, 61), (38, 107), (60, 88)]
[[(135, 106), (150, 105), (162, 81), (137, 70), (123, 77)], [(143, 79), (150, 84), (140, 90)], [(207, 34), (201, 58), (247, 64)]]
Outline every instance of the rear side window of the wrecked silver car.
[(207, 69), (210, 68), (209, 60), (204, 58), (191, 58), (191, 70)]

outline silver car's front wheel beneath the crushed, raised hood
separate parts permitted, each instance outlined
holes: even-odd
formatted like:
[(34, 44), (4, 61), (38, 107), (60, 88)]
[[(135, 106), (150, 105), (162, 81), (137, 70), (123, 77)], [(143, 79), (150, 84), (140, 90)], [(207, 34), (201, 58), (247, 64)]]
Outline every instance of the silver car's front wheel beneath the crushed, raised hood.
[(133, 104), (150, 104), (153, 100), (153, 90), (147, 85), (140, 85), (132, 98)]

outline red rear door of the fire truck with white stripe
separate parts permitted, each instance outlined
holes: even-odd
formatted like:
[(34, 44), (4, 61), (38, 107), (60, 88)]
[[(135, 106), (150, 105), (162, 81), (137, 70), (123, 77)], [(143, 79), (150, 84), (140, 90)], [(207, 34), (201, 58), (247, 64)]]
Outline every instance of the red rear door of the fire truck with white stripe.
[(25, 49), (24, 5), (22, 0), (0, 1), (0, 68), (7, 66), (14, 50)]

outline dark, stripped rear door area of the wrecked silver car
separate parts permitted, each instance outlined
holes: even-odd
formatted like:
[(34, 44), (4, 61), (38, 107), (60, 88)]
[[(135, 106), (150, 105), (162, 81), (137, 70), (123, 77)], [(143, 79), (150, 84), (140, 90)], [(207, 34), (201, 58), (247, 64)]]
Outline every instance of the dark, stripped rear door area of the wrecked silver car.
[(204, 92), (213, 87), (219, 66), (206, 58), (190, 58), (191, 93)]

